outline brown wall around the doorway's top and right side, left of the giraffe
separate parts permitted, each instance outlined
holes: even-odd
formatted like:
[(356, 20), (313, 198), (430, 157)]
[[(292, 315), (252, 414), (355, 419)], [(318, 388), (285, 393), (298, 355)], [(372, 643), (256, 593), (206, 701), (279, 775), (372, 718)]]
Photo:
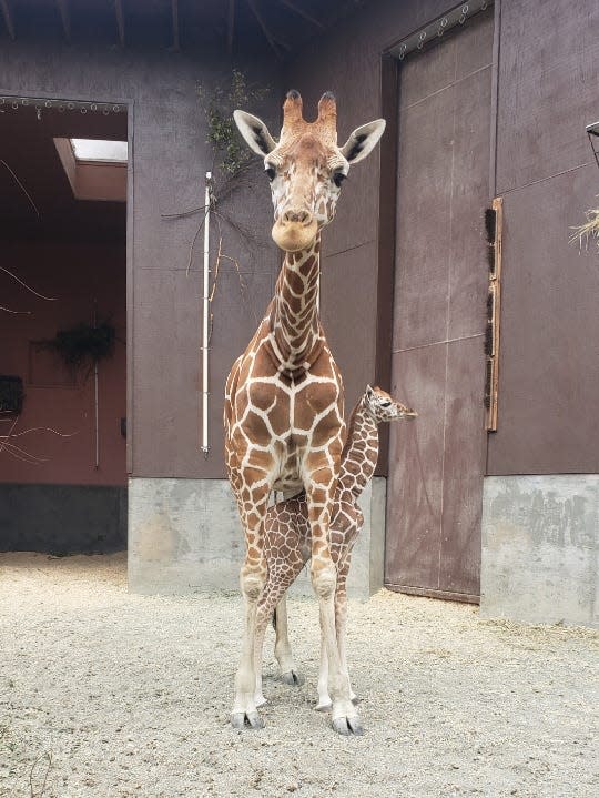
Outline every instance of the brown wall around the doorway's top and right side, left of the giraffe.
[[(250, 81), (271, 88), (254, 111), (278, 120), (280, 90), (270, 59), (237, 65)], [(162, 214), (203, 204), (213, 154), (199, 89), (210, 95), (219, 81), (230, 80), (229, 58), (18, 38), (0, 50), (0, 91), (7, 94), (130, 103), (130, 473), (224, 476), (224, 381), (271, 299), (280, 263), (270, 239), (268, 183), (258, 170), (250, 186), (220, 206), (223, 252), (233, 260), (222, 262), (213, 303), (207, 458), (200, 451), (202, 216), (165, 220)], [(240, 234), (240, 225), (248, 232)], [(215, 253), (215, 240), (213, 246)]]

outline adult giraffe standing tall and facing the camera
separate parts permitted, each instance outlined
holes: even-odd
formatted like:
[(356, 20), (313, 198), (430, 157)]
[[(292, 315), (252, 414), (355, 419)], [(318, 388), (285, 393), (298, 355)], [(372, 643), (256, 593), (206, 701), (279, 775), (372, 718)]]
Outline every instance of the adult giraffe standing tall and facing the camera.
[(306, 122), (296, 91), (285, 99), (278, 142), (257, 117), (235, 111), (234, 118), (250, 148), (264, 158), (274, 204), (272, 235), (285, 257), (266, 315), (226, 382), (226, 466), (246, 544), (240, 577), (245, 627), (232, 724), (235, 728), (263, 726), (254, 698), (254, 649), (257, 602), (267, 574), (263, 549), (268, 498), (273, 489), (304, 488), (312, 531), (312, 584), (329, 664), (333, 726), (348, 734), (359, 730), (359, 720), (335, 640), (336, 572), (328, 546), (345, 433), (344, 397), (318, 319), (321, 230), (335, 215), (349, 165), (373, 150), (385, 121), (357, 128), (339, 148), (333, 94), (323, 94), (318, 118)]

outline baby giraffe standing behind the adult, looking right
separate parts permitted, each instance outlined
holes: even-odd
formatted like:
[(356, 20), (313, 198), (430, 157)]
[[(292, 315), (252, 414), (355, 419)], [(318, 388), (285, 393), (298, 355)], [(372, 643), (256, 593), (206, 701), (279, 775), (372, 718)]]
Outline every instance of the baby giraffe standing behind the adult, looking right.
[[(337, 646), (344, 675), (348, 676), (345, 657), (345, 629), (347, 619), (346, 583), (352, 548), (364, 524), (364, 515), (357, 499), (372, 478), (378, 458), (378, 424), (396, 418), (414, 418), (413, 410), (396, 402), (379, 387), (366, 388), (352, 412), (347, 440), (341, 458), (341, 472), (329, 526), (329, 546), (337, 569), (335, 592), (335, 626)], [(262, 694), (262, 648), (268, 619), (276, 607), (275, 656), (283, 679), (290, 684), (300, 681), (296, 675), (287, 639), (287, 618), (284, 595), (311, 556), (311, 531), (306, 496), (301, 493), (293, 498), (270, 507), (264, 524), (265, 557), (268, 576), (257, 609), (256, 625), (256, 706), (265, 703)], [(278, 606), (277, 606), (278, 605)], [(328, 663), (326, 646), (321, 645), (321, 674), (318, 677), (317, 709), (328, 709)], [(355, 699), (354, 694), (352, 698)], [(335, 724), (335, 721), (334, 721)], [(341, 734), (362, 734), (359, 723), (346, 723)]]

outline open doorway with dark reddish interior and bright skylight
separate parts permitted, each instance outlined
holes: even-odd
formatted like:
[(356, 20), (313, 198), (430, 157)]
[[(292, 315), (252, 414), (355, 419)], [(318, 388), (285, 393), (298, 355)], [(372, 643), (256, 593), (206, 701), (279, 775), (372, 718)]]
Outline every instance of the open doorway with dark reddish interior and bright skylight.
[(124, 550), (128, 107), (0, 114), (0, 552)]

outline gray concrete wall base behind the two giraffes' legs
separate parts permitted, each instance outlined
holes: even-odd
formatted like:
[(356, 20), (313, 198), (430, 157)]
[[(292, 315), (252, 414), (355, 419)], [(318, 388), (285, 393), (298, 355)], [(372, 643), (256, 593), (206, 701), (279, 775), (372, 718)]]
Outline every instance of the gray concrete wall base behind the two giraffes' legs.
[[(363, 496), (365, 524), (348, 582), (353, 597), (368, 598), (383, 586), (385, 484), (376, 477)], [(131, 592), (237, 590), (243, 556), (241, 523), (226, 479), (130, 479)], [(296, 594), (312, 594), (305, 570), (293, 588)]]

